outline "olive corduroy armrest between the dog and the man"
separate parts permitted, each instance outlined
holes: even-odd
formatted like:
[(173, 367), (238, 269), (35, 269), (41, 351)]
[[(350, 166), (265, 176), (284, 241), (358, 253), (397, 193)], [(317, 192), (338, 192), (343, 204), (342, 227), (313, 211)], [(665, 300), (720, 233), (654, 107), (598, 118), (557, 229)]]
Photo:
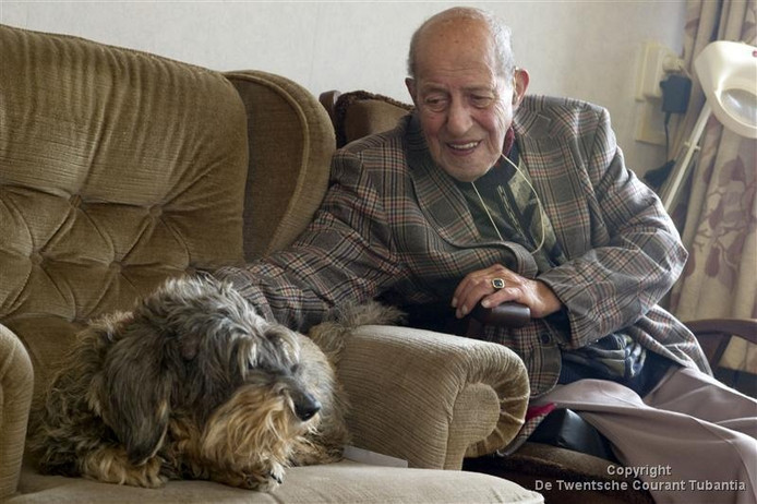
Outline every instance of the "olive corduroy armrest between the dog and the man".
[(520, 358), (504, 346), (368, 325), (344, 341), (338, 377), (352, 444), (410, 467), (460, 469), (506, 446), (529, 398)]

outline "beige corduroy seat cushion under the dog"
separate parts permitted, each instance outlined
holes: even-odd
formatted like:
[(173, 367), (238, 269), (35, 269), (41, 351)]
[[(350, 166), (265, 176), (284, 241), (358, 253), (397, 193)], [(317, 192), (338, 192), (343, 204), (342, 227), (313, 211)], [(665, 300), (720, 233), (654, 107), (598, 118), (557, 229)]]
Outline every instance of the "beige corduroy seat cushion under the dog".
[(540, 494), (493, 476), (377, 467), (351, 460), (290, 468), (284, 484), (272, 494), (208, 481), (169, 481), (157, 490), (121, 487), (82, 478), (41, 476), (29, 467), (22, 471), (19, 491), (7, 504), (543, 502)]

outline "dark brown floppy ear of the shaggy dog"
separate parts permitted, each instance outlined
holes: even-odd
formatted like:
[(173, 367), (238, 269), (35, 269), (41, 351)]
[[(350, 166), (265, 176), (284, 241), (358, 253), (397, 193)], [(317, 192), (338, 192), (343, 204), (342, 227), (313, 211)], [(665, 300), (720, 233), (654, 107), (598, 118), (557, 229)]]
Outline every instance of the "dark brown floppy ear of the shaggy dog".
[[(135, 333), (148, 331), (132, 327)], [(101, 399), (108, 405), (104, 419), (134, 465), (147, 461), (163, 445), (173, 386), (172, 373), (163, 365), (159, 338), (139, 336), (130, 334), (109, 352), (104, 376), (106, 397)]]

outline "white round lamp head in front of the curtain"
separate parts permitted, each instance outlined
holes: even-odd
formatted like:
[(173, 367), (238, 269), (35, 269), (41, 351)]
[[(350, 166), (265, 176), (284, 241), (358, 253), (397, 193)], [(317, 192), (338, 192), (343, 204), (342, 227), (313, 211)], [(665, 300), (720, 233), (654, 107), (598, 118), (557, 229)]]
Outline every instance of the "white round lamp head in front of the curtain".
[(713, 41), (694, 69), (714, 117), (734, 133), (757, 139), (757, 47)]

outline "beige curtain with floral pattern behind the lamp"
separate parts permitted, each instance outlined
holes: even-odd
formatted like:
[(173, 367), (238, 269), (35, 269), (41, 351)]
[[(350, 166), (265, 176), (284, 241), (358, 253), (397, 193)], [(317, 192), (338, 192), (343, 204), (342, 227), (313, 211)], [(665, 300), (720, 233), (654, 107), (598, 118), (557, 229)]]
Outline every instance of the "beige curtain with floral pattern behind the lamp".
[[(694, 75), (694, 58), (711, 40), (757, 45), (755, 0), (689, 0), (684, 59)], [(678, 129), (682, 152), (705, 101), (695, 86)], [(670, 297), (681, 320), (757, 317), (757, 141), (724, 129), (710, 117), (701, 151), (682, 197), (672, 212), (689, 252), (686, 268)], [(723, 365), (757, 370), (757, 349), (734, 341)]]

